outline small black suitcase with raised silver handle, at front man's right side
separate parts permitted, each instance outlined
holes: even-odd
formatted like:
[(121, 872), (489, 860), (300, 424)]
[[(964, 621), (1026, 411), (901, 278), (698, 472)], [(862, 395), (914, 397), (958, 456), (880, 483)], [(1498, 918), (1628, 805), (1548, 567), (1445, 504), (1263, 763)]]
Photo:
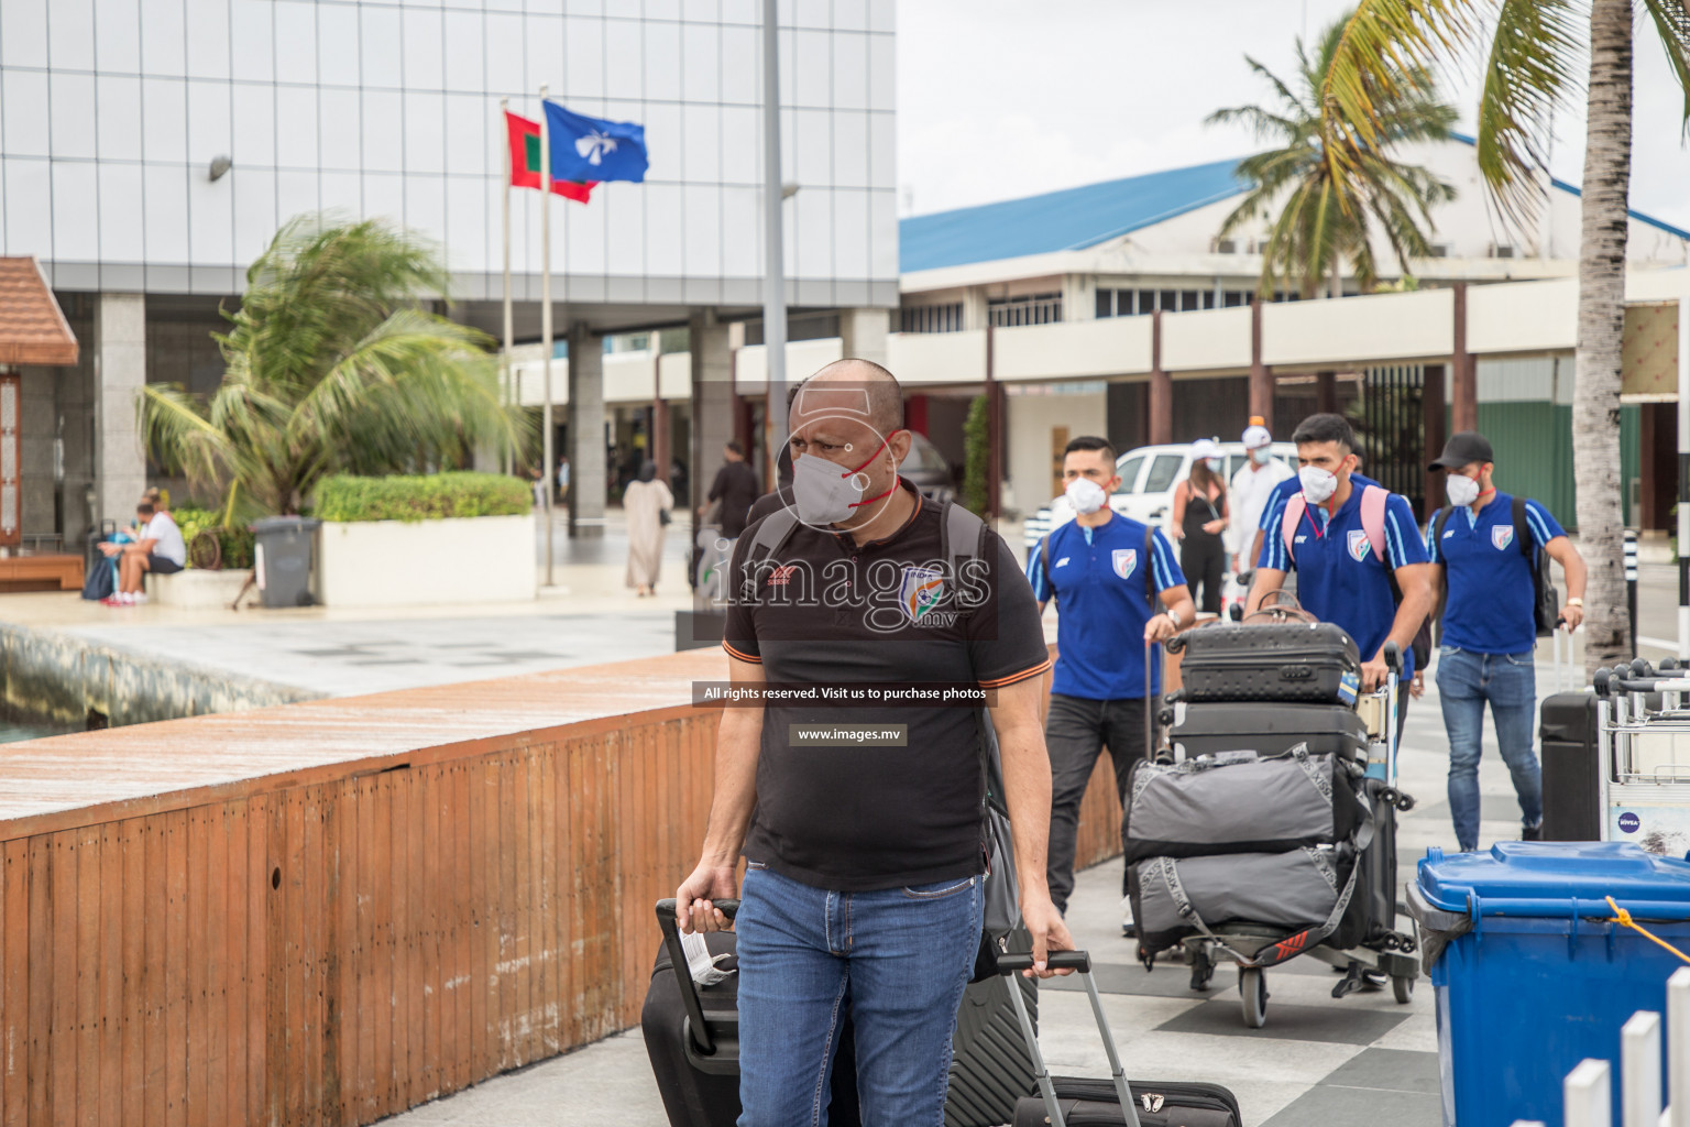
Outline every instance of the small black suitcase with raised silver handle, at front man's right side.
[[(1031, 955), (1004, 955), (997, 960), (1000, 975), (1014, 975), (1033, 965)], [(1017, 1009), (1021, 1036), (1038, 1070), (1038, 1093), (1016, 1103), (1014, 1127), (1240, 1127), (1237, 1098), (1220, 1085), (1190, 1081), (1129, 1081), (1120, 1070), (1115, 1037), (1104, 1019), (1104, 1000), (1092, 980), (1092, 958), (1085, 951), (1055, 951), (1053, 970), (1073, 968), (1092, 999), (1097, 1032), (1109, 1053), (1109, 1080), (1051, 1076), (1039, 1053), (1038, 1032), (1026, 1009)]]

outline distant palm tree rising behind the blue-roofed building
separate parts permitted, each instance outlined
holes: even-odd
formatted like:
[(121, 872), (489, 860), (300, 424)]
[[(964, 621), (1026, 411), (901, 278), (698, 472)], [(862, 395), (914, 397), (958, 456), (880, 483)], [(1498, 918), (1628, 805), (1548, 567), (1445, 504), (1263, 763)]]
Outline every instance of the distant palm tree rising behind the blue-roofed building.
[(1372, 252), (1376, 230), (1406, 274), (1409, 259), (1431, 250), (1423, 230), (1431, 226), (1431, 206), (1455, 198), (1455, 189), (1426, 169), (1389, 155), (1399, 144), (1450, 135), (1455, 110), (1436, 98), (1425, 76), (1398, 81), (1401, 95), (1379, 105), (1379, 132), (1359, 147), (1354, 164), (1328, 159), (1325, 149), (1332, 130), (1325, 118), (1332, 105), (1322, 98), (1322, 90), (1342, 32), (1340, 19), (1322, 32), (1313, 57), (1303, 41), (1296, 41), (1298, 91), (1244, 56), (1273, 86), (1279, 106), (1249, 105), (1208, 115), (1210, 123), (1240, 122), (1257, 140), (1276, 142), (1274, 149), (1239, 162), (1237, 176), (1251, 189), (1220, 226), (1222, 235), (1232, 235), (1259, 218), (1271, 220), (1262, 248), (1262, 297), (1273, 296), (1278, 277), (1303, 297), (1313, 297), (1330, 277), (1332, 296), (1340, 297), (1344, 262), (1350, 264), (1362, 292), (1371, 291), (1379, 282)]

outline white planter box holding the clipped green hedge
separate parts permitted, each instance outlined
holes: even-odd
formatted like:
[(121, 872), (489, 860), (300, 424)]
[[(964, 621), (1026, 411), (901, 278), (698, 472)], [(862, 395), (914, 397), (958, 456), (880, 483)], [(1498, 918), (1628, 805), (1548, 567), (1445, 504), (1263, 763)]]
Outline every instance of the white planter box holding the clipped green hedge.
[(324, 607), (514, 603), (537, 593), (534, 514), (450, 520), (324, 520), (316, 596)]

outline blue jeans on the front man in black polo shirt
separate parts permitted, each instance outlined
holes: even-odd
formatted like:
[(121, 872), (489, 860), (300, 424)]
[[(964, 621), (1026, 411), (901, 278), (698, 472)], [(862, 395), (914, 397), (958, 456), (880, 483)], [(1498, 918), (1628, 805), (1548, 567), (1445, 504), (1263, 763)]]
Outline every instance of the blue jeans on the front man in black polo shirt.
[(943, 1127), (984, 877), (828, 892), (755, 862), (739, 919), (739, 1127), (823, 1127), (850, 1005), (864, 1127)]

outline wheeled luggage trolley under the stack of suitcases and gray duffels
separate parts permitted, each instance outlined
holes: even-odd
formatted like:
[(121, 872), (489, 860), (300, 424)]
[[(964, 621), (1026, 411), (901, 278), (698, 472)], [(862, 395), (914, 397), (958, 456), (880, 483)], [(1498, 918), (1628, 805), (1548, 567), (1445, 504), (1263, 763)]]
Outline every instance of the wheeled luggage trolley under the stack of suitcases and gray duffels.
[[(1283, 615), (1284, 610), (1279, 613)], [(1399, 1004), (1406, 1005), (1413, 1000), (1415, 980), (1420, 977), (1418, 943), (1413, 931), (1396, 931), (1394, 923), (1398, 914), (1396, 814), (1413, 809), (1415, 799), (1396, 789), (1396, 710), (1403, 659), (1391, 642), (1384, 647), (1384, 657), (1389, 669), (1386, 684), (1357, 701), (1357, 711), (1367, 720), (1369, 728), (1366, 794), (1372, 804), (1376, 830), (1372, 843), (1355, 858), (1355, 865), (1367, 868), (1357, 875), (1354, 899), (1382, 897), (1376, 914), (1389, 923), (1374, 926), (1359, 945), (1340, 948), (1328, 936), (1328, 939), (1313, 943), (1293, 956), (1276, 948), (1298, 933), (1266, 924), (1234, 921), (1181, 941), (1186, 963), (1191, 966), (1193, 990), (1208, 988), (1220, 960), (1230, 958), (1237, 965), (1239, 1002), (1244, 1024), (1251, 1029), (1261, 1029), (1268, 1021), (1268, 966), (1300, 955), (1308, 955), (1345, 972), (1344, 980), (1332, 988), (1335, 999), (1367, 988), (1379, 978), (1387, 978)], [(1690, 689), (1690, 681), (1685, 683), (1685, 688)], [(1687, 759), (1690, 759), (1690, 742), (1687, 742)], [(1690, 782), (1690, 770), (1687, 770), (1687, 782)], [(1690, 787), (1687, 787), (1687, 803), (1690, 803)], [(1342, 931), (1340, 924), (1333, 934)]]

